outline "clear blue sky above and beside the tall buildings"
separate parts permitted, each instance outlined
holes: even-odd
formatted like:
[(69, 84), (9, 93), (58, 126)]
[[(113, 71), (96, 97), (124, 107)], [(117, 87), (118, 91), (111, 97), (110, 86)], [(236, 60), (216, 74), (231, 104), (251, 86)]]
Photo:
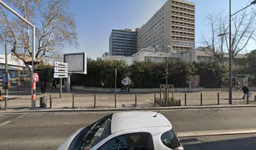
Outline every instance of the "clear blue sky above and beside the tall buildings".
[[(66, 47), (63, 53), (86, 52), (96, 59), (109, 51), (112, 29), (135, 30), (146, 23), (167, 0), (70, 0), (77, 22), (78, 49)], [(196, 46), (206, 32), (206, 14), (224, 9), (228, 0), (190, 0), (196, 4)], [(247, 0), (232, 0), (233, 12), (247, 5)], [(256, 6), (251, 6), (256, 7)], [(2, 51), (2, 48), (1, 50)], [(3, 54), (3, 51), (0, 52)]]

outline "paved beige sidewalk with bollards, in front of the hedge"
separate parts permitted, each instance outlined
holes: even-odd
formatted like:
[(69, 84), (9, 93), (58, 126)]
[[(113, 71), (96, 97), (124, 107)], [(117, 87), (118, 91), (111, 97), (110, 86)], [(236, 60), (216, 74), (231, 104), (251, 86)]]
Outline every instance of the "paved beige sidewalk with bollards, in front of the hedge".
[[(47, 87), (48, 88), (48, 87)], [(46, 94), (42, 95), (40, 93), (40, 88), (37, 88), (36, 95), (36, 108), (40, 107), (40, 97), (46, 97), (47, 108), (50, 108), (50, 94), (52, 98), (52, 109), (72, 109), (73, 105), (73, 94), (74, 95), (74, 106), (75, 109), (95, 109), (94, 108), (94, 94), (88, 91), (73, 90), (71, 93), (63, 92), (62, 98), (60, 99), (60, 89), (46, 89)], [(65, 91), (65, 89), (63, 89)], [(200, 106), (200, 94), (203, 94), (203, 106)], [(252, 92), (252, 98), (250, 98), (249, 104), (247, 105), (247, 100), (242, 99), (242, 91), (233, 91), (233, 104), (228, 104), (228, 92), (227, 91), (204, 91), (201, 93), (187, 93), (187, 106), (184, 106), (184, 93), (174, 93), (175, 99), (181, 100), (181, 106), (178, 108), (170, 109), (194, 109), (194, 108), (216, 108), (216, 107), (254, 107), (256, 106), (256, 101), (254, 101), (254, 95), (256, 92)], [(220, 93), (220, 105), (217, 101), (217, 94)], [(29, 110), (31, 108), (31, 95), (30, 89), (28, 87), (22, 87), (21, 91), (16, 91), (15, 88), (10, 89), (8, 98), (8, 108), (12, 110)], [(134, 93), (117, 93), (117, 109), (159, 109), (160, 106), (156, 104), (154, 106), (154, 94), (136, 94)], [(4, 98), (4, 91), (2, 91)], [(96, 109), (95, 110), (109, 110), (115, 108), (115, 94), (114, 93), (97, 93), (96, 97)], [(156, 93), (156, 97), (159, 97), (159, 93)], [(1, 109), (4, 109), (4, 99), (0, 101)], [(42, 109), (38, 109), (42, 110)], [(74, 110), (74, 109), (72, 109)]]

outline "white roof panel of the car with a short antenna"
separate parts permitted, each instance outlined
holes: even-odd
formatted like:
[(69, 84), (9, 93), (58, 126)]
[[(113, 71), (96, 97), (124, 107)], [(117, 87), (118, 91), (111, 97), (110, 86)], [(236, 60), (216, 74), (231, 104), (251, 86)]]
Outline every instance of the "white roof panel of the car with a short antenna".
[[(152, 111), (129, 111), (114, 113), (111, 121), (111, 133), (128, 129), (170, 126), (171, 123), (161, 114)], [(172, 128), (172, 127), (171, 127)]]

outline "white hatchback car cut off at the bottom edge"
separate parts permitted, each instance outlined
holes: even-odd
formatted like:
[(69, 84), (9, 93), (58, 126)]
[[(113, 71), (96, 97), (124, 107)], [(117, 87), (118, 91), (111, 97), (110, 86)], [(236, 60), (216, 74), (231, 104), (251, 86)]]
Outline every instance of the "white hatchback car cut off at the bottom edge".
[(133, 111), (105, 116), (79, 129), (59, 150), (183, 150), (171, 123), (155, 112)]

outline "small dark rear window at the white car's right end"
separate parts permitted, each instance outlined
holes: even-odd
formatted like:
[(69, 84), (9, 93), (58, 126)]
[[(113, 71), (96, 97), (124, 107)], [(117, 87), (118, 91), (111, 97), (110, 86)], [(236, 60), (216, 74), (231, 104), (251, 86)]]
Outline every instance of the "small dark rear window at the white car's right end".
[(171, 149), (176, 149), (181, 146), (173, 130), (167, 131), (166, 133), (162, 134), (161, 141), (165, 146)]

